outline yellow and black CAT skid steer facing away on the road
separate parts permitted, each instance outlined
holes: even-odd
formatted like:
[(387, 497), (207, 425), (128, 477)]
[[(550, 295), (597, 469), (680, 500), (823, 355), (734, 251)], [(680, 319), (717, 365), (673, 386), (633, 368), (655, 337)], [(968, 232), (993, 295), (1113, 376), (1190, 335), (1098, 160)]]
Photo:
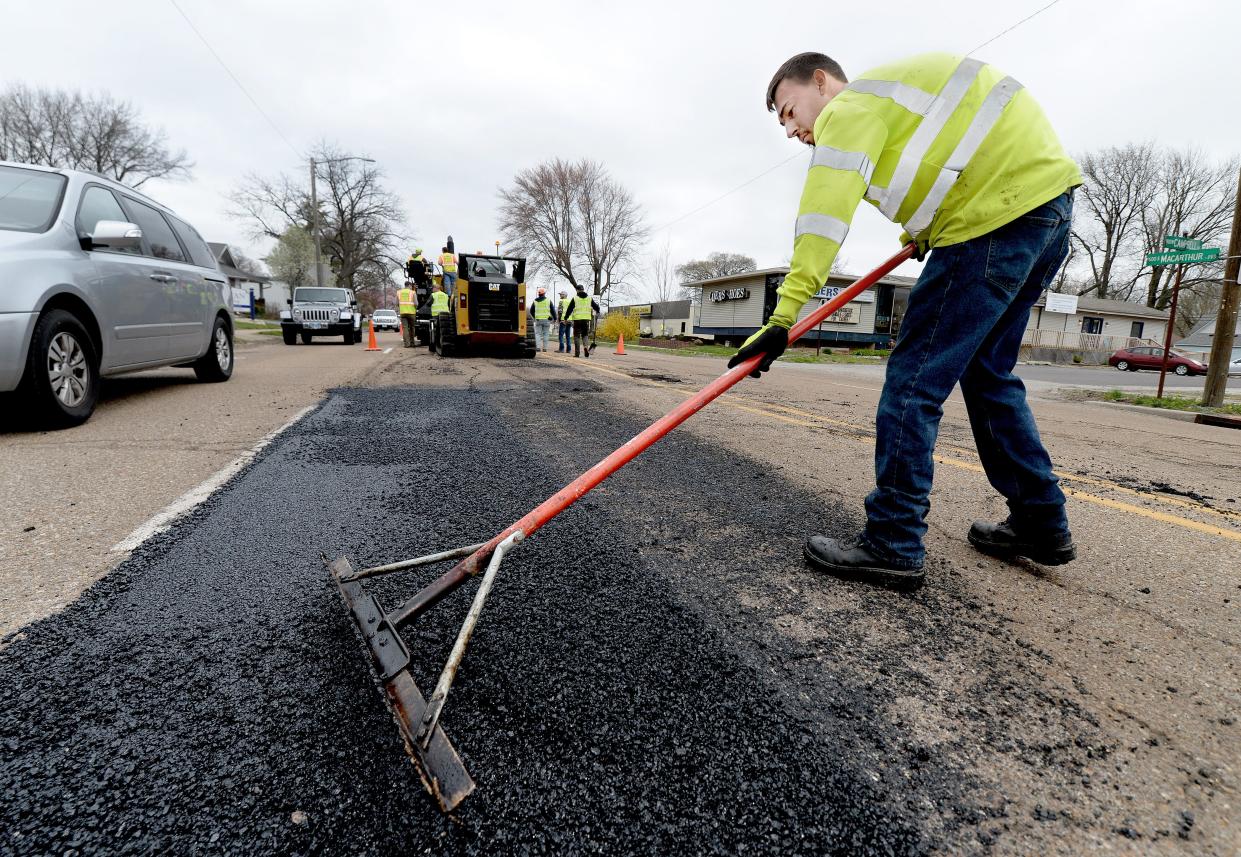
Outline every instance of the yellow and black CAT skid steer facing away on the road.
[(534, 357), (535, 332), (526, 320), (526, 260), (462, 253), (448, 311), (431, 320), (431, 347), (441, 357)]

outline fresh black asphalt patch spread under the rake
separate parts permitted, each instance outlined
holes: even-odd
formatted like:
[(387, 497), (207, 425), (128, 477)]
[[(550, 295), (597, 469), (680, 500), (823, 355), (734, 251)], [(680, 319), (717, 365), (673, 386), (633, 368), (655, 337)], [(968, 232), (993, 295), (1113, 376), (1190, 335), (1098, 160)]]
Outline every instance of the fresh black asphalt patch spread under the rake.
[[(851, 587), (932, 660), (1003, 641), (995, 615), (957, 603), (948, 569), (912, 597), (818, 578), (807, 528), (855, 521), (688, 434), (511, 554), (442, 721), (478, 789), (434, 809), (320, 552), (482, 541), (640, 427), (589, 382), (336, 391), (0, 650), (0, 853), (906, 855), (1003, 835), (1004, 800), (885, 714), (925, 682), (911, 652), (859, 644), (843, 614), (774, 630), (791, 587)], [(407, 631), (424, 691), (467, 600)], [(1013, 667), (980, 667), (963, 717), (1031, 765), (1078, 764), (1081, 739), (1026, 743), (989, 708), (1088, 730)]]

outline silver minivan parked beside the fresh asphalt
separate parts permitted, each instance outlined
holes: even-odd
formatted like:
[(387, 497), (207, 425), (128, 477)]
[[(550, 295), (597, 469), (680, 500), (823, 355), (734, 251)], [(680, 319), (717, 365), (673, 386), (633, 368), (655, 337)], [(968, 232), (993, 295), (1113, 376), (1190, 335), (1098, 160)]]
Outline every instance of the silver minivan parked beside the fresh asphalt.
[(78, 170), (0, 161), (0, 393), (42, 425), (89, 418), (99, 378), (233, 368), (228, 282), (192, 226)]

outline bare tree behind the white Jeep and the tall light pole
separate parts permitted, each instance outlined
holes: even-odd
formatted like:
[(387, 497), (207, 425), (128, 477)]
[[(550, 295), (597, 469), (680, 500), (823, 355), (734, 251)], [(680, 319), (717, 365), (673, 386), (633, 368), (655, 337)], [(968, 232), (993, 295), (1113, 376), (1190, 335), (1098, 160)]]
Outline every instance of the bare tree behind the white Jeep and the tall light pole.
[[(328, 144), (319, 144), (314, 156), (320, 164), (320, 246), (336, 283), (359, 294), (382, 288), (401, 268), (410, 241), (400, 198), (383, 187), (375, 164), (340, 160), (344, 153)], [(231, 213), (247, 221), (254, 237), (311, 229), (309, 177), (252, 174), (230, 200)]]

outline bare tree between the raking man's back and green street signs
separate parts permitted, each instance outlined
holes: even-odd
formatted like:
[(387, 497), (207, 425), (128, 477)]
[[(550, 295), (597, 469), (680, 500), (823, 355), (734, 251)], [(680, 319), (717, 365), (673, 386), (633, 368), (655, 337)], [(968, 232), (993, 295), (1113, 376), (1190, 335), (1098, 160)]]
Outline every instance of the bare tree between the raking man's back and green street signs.
[(1142, 217), (1158, 193), (1159, 156), (1153, 144), (1109, 146), (1080, 158), (1082, 179), (1072, 241), (1090, 275), (1080, 294), (1127, 299), (1132, 277), (1117, 269), (1137, 257)]

